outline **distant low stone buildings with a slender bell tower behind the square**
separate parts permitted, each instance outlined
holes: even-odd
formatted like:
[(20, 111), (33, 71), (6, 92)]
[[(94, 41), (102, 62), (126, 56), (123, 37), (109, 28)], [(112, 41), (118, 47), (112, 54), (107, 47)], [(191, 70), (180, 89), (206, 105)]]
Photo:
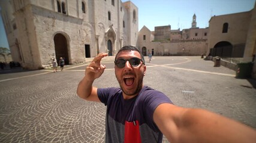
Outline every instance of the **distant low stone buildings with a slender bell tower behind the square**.
[(143, 26), (138, 33), (138, 48), (143, 55), (201, 55), (207, 52), (209, 29), (197, 27), (196, 15), (190, 29), (171, 30), (171, 26), (157, 26), (151, 32)]

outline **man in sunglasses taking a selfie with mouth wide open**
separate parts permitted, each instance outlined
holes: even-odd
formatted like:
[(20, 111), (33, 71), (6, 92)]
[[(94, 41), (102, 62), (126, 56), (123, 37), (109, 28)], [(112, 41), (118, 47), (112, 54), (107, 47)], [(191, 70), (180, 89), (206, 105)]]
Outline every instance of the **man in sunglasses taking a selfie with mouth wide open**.
[[(105, 142), (255, 142), (256, 130), (203, 109), (174, 105), (162, 92), (143, 85), (146, 66), (134, 46), (122, 47), (115, 57), (120, 88), (97, 88), (94, 80), (106, 66), (98, 54), (86, 67), (77, 95), (107, 106)], [(168, 87), (169, 88), (169, 87)]]

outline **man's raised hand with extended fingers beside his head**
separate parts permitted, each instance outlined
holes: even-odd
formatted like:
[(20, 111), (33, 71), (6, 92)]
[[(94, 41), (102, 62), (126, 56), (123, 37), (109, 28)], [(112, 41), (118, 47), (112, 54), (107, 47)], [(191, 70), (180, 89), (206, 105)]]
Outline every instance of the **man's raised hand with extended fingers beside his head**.
[(85, 76), (88, 80), (95, 80), (103, 74), (106, 66), (101, 64), (101, 59), (107, 55), (107, 53), (98, 54), (86, 67)]

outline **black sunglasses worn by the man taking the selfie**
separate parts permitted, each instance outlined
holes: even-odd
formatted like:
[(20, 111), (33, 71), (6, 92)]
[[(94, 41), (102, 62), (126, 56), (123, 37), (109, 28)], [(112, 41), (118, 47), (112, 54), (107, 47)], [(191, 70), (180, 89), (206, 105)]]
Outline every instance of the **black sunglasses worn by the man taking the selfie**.
[[(126, 60), (124, 58), (119, 58), (118, 60), (114, 61), (115, 65), (119, 68), (125, 67), (125, 63), (129, 61), (129, 64), (131, 64), (132, 67), (137, 67), (140, 64), (140, 61), (142, 61), (140, 58), (130, 58), (129, 60)], [(142, 61), (144, 64), (144, 62)]]

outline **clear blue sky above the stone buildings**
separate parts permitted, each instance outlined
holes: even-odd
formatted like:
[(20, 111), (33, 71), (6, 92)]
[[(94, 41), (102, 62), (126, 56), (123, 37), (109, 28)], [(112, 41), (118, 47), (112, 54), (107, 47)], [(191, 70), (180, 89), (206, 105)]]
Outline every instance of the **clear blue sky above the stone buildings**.
[[(125, 2), (125, 0), (122, 0)], [(138, 30), (146, 26), (171, 25), (171, 29), (188, 29), (192, 16), (197, 15), (197, 27), (209, 26), (210, 17), (250, 11), (255, 0), (131, 0), (138, 7)], [(1, 11), (1, 8), (0, 8)], [(0, 17), (0, 46), (9, 47)]]

